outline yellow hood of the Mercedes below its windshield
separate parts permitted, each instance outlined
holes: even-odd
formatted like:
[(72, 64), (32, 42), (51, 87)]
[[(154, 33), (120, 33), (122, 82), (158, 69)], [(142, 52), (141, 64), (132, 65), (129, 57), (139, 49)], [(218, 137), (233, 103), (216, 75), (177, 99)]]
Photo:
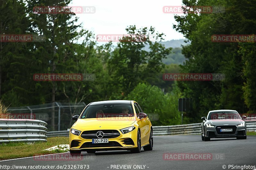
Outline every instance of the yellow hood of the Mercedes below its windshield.
[(135, 122), (135, 117), (102, 117), (78, 119), (73, 127), (104, 126), (104, 125), (130, 125)]

